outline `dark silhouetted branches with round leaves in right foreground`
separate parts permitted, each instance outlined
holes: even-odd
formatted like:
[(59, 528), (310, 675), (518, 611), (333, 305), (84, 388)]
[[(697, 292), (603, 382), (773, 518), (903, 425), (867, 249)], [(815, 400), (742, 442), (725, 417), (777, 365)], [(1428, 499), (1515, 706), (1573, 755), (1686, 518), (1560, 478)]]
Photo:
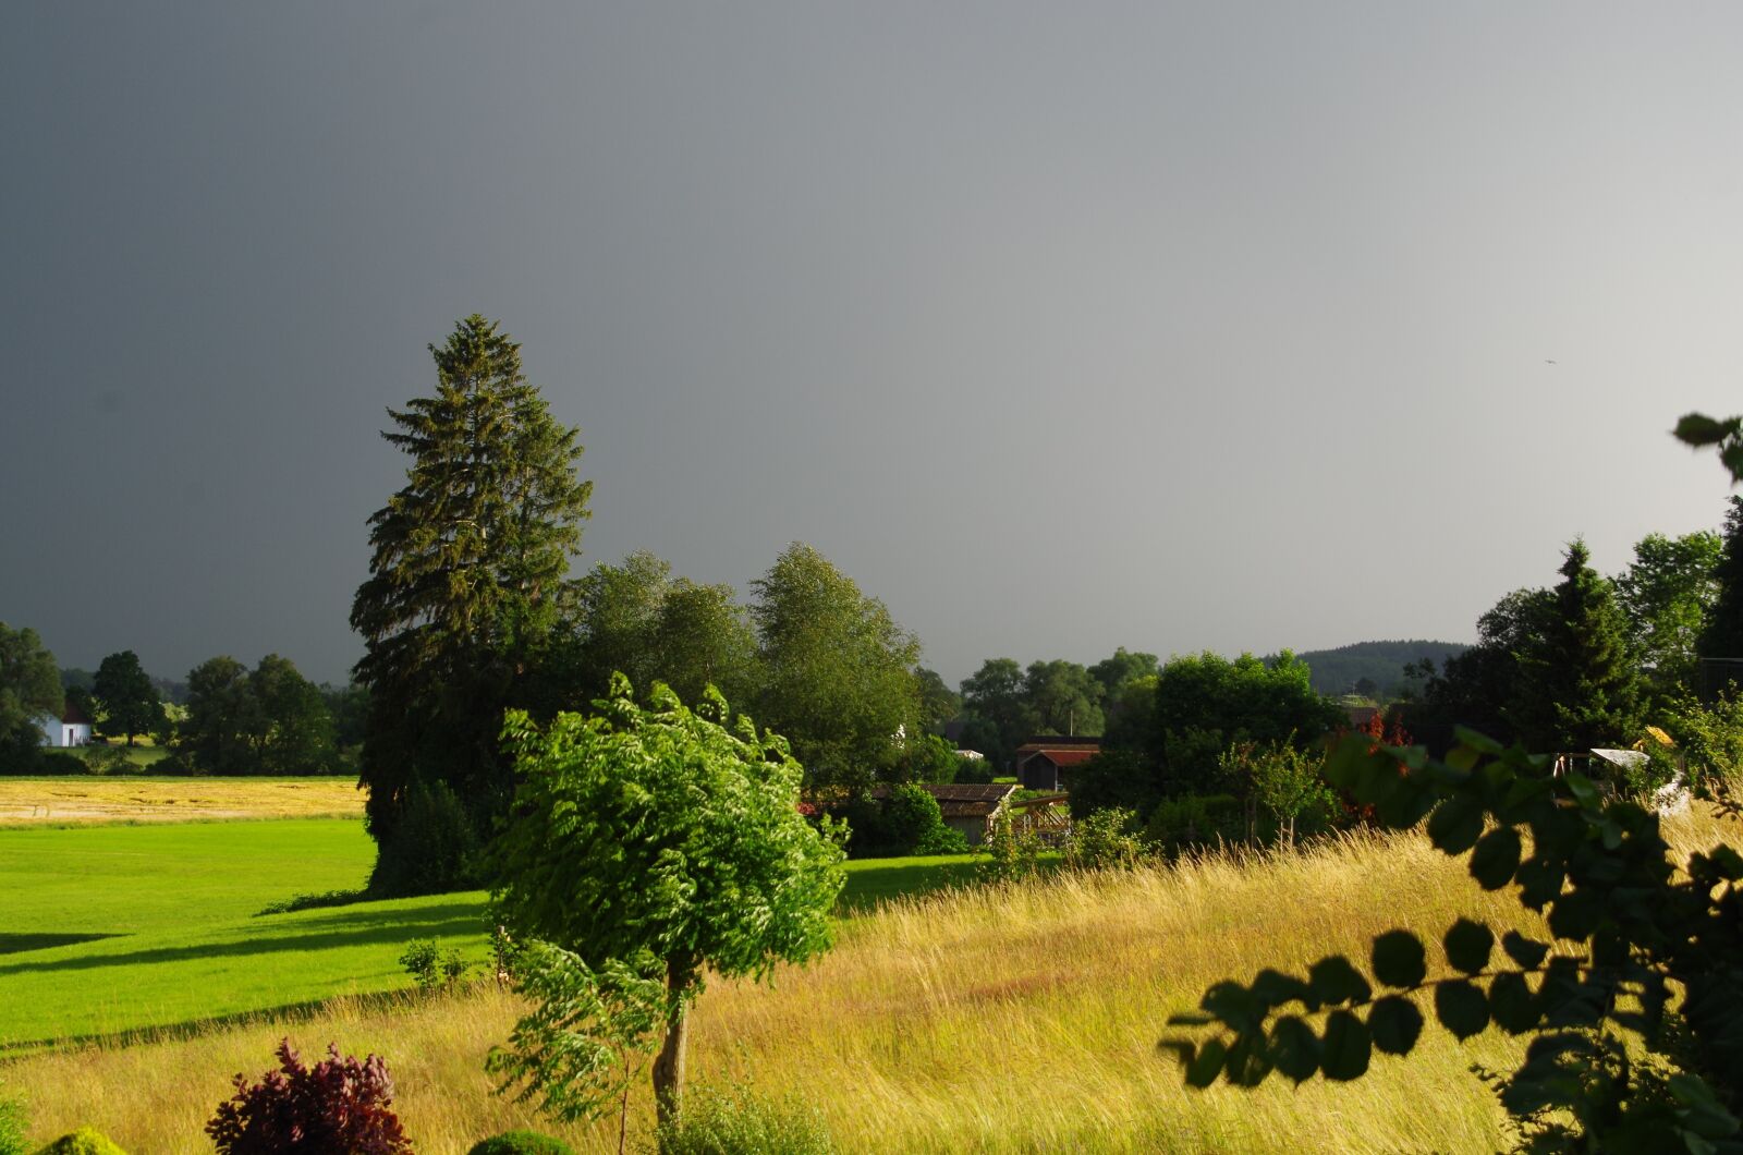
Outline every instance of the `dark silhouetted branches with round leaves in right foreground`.
[(1389, 930), (1367, 972), (1333, 954), (1306, 975), (1218, 982), (1170, 1021), (1201, 1029), (1161, 1043), (1189, 1085), (1360, 1078), (1375, 1050), (1417, 1045), (1429, 1001), (1461, 1040), (1490, 1026), (1536, 1036), (1495, 1080), (1536, 1150), (1743, 1153), (1743, 857), (1719, 844), (1679, 872), (1656, 813), (1466, 729), (1445, 762), (1351, 736), (1326, 780), (1384, 825), (1428, 818), (1436, 848), (1546, 912), (1555, 942), (1461, 918), (1440, 942), (1447, 977), (1429, 979), (1414, 932)]

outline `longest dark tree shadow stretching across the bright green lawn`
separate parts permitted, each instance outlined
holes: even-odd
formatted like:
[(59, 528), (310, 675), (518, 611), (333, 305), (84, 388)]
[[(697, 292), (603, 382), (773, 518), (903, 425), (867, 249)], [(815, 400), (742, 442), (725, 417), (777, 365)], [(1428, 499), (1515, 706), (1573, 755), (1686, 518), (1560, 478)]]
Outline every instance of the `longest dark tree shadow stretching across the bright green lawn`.
[[(291, 928), (286, 928), (291, 932)], [(444, 902), (410, 911), (357, 911), (329, 914), (300, 921), (291, 933), (256, 935), (241, 942), (206, 942), (190, 946), (150, 947), (143, 951), (117, 951), (78, 954), (49, 961), (16, 961), (0, 965), (0, 977), (51, 970), (96, 970), (101, 967), (138, 967), (174, 963), (192, 958), (235, 958), (246, 954), (274, 954), (279, 951), (326, 951), (345, 946), (399, 944), (410, 939), (441, 939), (485, 932), (481, 902)], [(105, 935), (98, 935), (105, 937)]]

